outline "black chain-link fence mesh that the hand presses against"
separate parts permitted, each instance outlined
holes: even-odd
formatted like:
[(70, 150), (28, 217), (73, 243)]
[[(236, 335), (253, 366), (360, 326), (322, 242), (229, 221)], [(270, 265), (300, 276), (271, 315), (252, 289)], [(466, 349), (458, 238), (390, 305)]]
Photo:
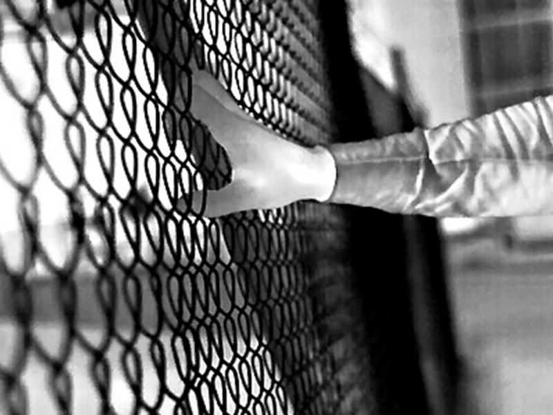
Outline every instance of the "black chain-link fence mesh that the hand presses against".
[(207, 71), (285, 138), (330, 142), (317, 13), (0, 4), (0, 413), (375, 407), (346, 212), (202, 217), (231, 170), (191, 81)]

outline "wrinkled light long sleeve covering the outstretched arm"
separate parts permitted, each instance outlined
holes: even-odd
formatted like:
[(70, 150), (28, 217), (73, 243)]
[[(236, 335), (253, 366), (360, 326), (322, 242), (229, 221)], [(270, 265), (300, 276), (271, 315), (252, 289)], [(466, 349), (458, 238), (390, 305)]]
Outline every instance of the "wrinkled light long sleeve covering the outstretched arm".
[(553, 95), (330, 153), (332, 203), (428, 216), (553, 214)]

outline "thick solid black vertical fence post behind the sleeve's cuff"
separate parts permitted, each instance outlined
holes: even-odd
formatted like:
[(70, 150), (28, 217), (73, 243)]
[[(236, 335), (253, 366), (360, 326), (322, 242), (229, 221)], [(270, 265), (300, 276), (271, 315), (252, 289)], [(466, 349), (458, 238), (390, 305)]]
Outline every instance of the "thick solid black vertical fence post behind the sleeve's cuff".
[[(376, 136), (353, 57), (344, 0), (319, 2), (330, 100), (339, 141)], [(371, 178), (367, 178), (371, 180)], [(402, 216), (348, 208), (353, 284), (362, 298), (371, 376), (371, 414), (428, 414), (429, 405), (413, 326)]]

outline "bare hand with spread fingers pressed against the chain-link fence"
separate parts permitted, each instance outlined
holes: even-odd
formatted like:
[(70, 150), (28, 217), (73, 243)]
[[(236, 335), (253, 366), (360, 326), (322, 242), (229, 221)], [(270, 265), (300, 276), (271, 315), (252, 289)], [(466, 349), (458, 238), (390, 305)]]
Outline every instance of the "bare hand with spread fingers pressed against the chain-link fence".
[[(303, 199), (326, 201), (336, 167), (330, 151), (302, 147), (247, 116), (223, 86), (205, 71), (194, 73), (191, 113), (223, 146), (232, 167), (221, 190), (196, 192), (194, 210), (216, 217), (251, 209), (271, 209)], [(203, 209), (205, 206), (205, 209)]]

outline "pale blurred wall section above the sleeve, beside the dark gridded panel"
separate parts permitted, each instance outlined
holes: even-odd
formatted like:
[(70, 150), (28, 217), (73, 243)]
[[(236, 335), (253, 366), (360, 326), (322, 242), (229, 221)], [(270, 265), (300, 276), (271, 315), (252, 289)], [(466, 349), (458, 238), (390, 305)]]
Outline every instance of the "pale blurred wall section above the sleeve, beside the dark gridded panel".
[(351, 0), (356, 18), (404, 49), (413, 92), (429, 125), (469, 115), (456, 0)]

